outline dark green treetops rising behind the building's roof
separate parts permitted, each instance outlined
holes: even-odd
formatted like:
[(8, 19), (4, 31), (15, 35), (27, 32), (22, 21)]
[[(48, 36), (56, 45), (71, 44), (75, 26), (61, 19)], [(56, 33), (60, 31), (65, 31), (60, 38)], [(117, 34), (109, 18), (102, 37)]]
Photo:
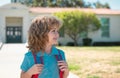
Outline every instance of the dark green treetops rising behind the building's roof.
[(108, 8), (108, 3), (102, 4), (99, 1), (96, 3), (85, 2), (85, 0), (24, 0), (21, 2), (27, 6), (34, 7), (83, 7), (83, 8)]

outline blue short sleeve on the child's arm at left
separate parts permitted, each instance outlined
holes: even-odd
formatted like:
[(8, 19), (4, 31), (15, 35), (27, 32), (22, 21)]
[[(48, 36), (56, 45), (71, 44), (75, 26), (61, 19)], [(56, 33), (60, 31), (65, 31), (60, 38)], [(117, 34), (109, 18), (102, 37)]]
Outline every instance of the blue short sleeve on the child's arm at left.
[(29, 59), (28, 56), (25, 54), (23, 62), (20, 67), (22, 71), (26, 72), (29, 69), (28, 63), (29, 63)]

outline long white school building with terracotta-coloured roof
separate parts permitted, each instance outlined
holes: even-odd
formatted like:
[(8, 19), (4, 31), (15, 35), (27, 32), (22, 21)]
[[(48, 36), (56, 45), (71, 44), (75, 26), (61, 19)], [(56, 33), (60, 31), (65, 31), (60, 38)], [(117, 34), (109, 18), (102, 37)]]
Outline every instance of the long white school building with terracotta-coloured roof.
[[(27, 7), (20, 3), (10, 3), (0, 7), (0, 41), (2, 43), (25, 43), (31, 20), (36, 16), (52, 15), (60, 11), (80, 10), (94, 12), (102, 23), (102, 28), (90, 32), (93, 42), (120, 42), (120, 10), (83, 8), (41, 8)], [(73, 42), (65, 33), (59, 38), (62, 45)], [(82, 39), (79, 44), (82, 45)]]

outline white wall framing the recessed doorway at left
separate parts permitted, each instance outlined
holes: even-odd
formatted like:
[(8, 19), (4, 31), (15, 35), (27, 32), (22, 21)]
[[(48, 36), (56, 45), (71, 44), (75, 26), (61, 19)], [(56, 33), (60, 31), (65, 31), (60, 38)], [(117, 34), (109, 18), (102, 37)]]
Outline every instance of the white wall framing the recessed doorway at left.
[[(10, 6), (10, 5), (9, 5)], [(17, 5), (18, 6), (18, 5)], [(27, 41), (27, 31), (30, 26), (30, 16), (29, 9), (18, 6), (18, 8), (13, 5), (12, 7), (2, 7), (0, 8), (0, 36), (2, 37), (2, 42), (6, 42), (6, 17), (21, 17), (23, 18), (22, 24), (22, 42)]]

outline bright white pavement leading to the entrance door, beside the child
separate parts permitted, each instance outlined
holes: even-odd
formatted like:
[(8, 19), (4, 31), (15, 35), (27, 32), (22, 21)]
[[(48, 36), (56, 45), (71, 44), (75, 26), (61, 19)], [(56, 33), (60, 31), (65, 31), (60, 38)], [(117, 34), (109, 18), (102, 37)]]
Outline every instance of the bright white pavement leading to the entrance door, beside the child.
[[(3, 44), (0, 49), (0, 78), (20, 78), (20, 65), (25, 52), (25, 44)], [(69, 74), (68, 78), (79, 78)]]

